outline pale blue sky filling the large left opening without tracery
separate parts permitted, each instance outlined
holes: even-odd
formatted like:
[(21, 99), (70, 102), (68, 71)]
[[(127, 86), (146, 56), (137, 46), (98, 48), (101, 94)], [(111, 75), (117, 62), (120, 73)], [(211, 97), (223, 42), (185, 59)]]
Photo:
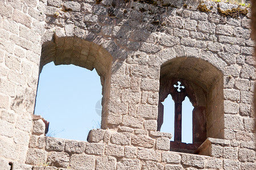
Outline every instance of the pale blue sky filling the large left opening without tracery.
[[(49, 125), (49, 136), (85, 141), (91, 129), (101, 128), (100, 76), (75, 65), (55, 66), (53, 62), (40, 73), (35, 114)], [(98, 109), (100, 109), (98, 105)]]

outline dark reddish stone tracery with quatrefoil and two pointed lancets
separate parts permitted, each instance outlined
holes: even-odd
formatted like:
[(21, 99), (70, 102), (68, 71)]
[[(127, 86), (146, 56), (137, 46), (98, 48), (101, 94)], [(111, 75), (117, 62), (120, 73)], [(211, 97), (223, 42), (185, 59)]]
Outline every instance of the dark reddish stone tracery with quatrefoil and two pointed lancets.
[[(160, 83), (158, 103), (158, 131), (160, 131), (163, 124), (164, 106), (161, 102), (163, 102), (169, 94), (172, 96), (172, 99), (175, 102), (174, 141), (170, 141), (170, 151), (195, 153), (197, 148), (207, 138), (205, 105), (199, 105), (197, 103), (195, 92), (193, 91), (189, 82), (186, 80), (173, 79), (168, 83), (165, 82), (164, 85)], [(181, 142), (181, 111), (182, 102), (186, 96), (189, 98), (194, 107), (192, 111), (193, 142), (188, 144)]]

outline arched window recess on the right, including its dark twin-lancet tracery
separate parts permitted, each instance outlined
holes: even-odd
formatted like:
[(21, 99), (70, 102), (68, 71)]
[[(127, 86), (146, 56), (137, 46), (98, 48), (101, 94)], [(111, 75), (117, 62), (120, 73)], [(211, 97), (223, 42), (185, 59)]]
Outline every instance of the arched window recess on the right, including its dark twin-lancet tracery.
[[(173, 58), (161, 66), (159, 83), (158, 131), (166, 121), (164, 115), (168, 114), (163, 101), (171, 95), (175, 102), (171, 151), (198, 153), (197, 148), (208, 137), (224, 138), (223, 74), (220, 70), (200, 58)], [(191, 111), (185, 111), (188, 106)], [(189, 125), (185, 122), (187, 118), (192, 121), (190, 127), (186, 127)], [(192, 137), (187, 141), (185, 137), (189, 134)]]

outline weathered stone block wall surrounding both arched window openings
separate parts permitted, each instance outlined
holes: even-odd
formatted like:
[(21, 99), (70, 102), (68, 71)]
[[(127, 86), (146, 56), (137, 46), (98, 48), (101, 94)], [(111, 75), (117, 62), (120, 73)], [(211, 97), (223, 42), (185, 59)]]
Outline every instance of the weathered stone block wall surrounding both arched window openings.
[[(250, 9), (164, 0), (1, 0), (0, 7), (2, 169), (255, 167)], [(231, 9), (234, 18), (225, 16)], [(101, 76), (102, 129), (88, 142), (44, 137), (33, 116), (38, 75), (51, 61)], [(196, 94), (207, 107), (208, 139), (197, 155), (168, 151), (171, 134), (156, 131), (163, 76), (203, 91)]]

